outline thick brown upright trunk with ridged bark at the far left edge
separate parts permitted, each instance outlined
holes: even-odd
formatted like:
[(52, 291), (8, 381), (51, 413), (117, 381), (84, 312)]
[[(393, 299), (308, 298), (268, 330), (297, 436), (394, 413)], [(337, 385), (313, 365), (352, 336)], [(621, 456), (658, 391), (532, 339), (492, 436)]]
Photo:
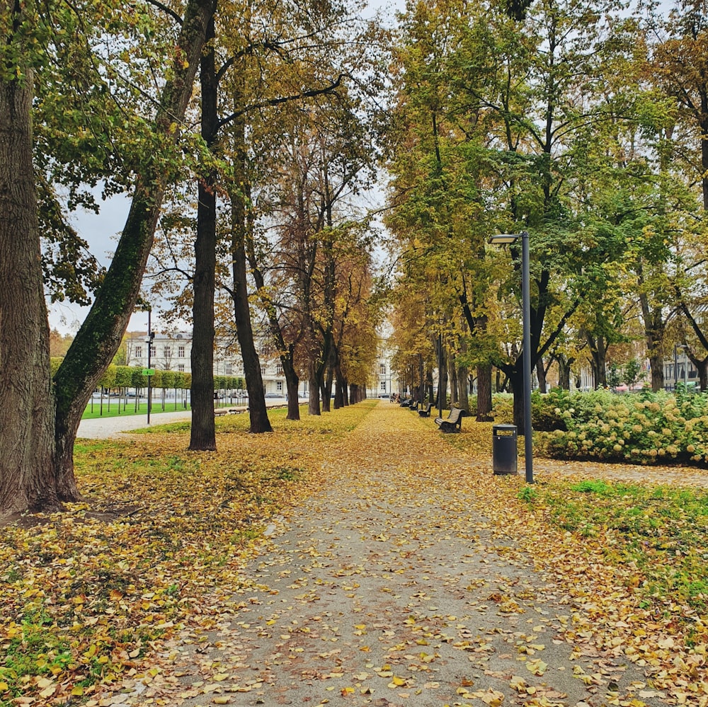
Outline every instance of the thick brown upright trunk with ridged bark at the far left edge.
[[(0, 81), (0, 516), (59, 507), (32, 86), (32, 71)], [(66, 490), (78, 497), (76, 485)]]

